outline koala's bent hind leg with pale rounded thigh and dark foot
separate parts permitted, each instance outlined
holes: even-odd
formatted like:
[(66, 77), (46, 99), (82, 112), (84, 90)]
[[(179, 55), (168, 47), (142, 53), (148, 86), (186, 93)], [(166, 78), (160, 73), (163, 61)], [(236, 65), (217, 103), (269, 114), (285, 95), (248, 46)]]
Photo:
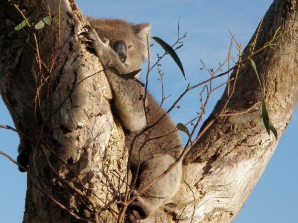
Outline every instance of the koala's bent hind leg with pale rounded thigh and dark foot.
[[(167, 154), (155, 155), (142, 165), (139, 189), (146, 186), (153, 178), (162, 174), (174, 159)], [(165, 199), (176, 194), (182, 176), (182, 165), (179, 162), (169, 173), (151, 185), (141, 196), (138, 196), (128, 210), (129, 223), (138, 219), (146, 219), (151, 213), (162, 205)]]

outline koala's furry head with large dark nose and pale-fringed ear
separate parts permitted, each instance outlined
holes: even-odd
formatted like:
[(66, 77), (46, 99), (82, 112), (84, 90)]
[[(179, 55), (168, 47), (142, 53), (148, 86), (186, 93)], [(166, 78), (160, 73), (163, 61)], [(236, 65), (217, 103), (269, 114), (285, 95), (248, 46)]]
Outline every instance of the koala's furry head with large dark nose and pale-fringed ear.
[(110, 47), (130, 71), (140, 68), (147, 51), (149, 23), (133, 24), (121, 19), (95, 19), (88, 17), (100, 39), (108, 39)]

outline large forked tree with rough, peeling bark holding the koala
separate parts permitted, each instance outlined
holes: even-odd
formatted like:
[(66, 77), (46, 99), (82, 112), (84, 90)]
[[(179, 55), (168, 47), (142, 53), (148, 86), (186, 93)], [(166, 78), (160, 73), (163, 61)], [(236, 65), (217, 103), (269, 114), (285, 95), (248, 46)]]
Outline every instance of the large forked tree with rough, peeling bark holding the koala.
[[(51, 73), (55, 78), (49, 78), (51, 82), (49, 86), (47, 86), (47, 88), (41, 88), (37, 94), (38, 97), (36, 97), (36, 87), (43, 83), (43, 78), (41, 77), (42, 72), (40, 72), (42, 70), (39, 70), (38, 67), (40, 61), (37, 63), (35, 61), (36, 50), (24, 44), (26, 38), (24, 33), (11, 32), (11, 28), (20, 21), (20, 15), (13, 7), (10, 8), (11, 6), (7, 5), (8, 3), (1, 4), (3, 4), (1, 8), (4, 8), (0, 15), (1, 18), (8, 18), (13, 22), (7, 24), (4, 23), (2, 19), (0, 26), (1, 30), (4, 30), (1, 32), (2, 36), (5, 37), (0, 47), (4, 50), (3, 52), (5, 52), (4, 58), (1, 59), (1, 61), (5, 63), (5, 66), (1, 68), (1, 95), (11, 112), (17, 129), (20, 132), (31, 134), (30, 136), (35, 139), (34, 143), (32, 143), (30, 140), (22, 137), (24, 144), (33, 144), (28, 147), (31, 147), (35, 151), (35, 158), (32, 159), (33, 163), (31, 166), (33, 178), (42, 188), (46, 189), (49, 195), (61, 201), (63, 204), (71, 204), (69, 205), (73, 207), (71, 210), (75, 210), (74, 207), (76, 207), (77, 210), (79, 210), (77, 213), (83, 216), (81, 215), (82, 212), (88, 213), (88, 210), (85, 212), (84, 210), (80, 210), (80, 207), (83, 206), (82, 201), (90, 202), (90, 204), (92, 204), (92, 201), (88, 201), (89, 198), (85, 198), (86, 195), (81, 194), (82, 192), (75, 191), (75, 188), (70, 189), (69, 194), (65, 193), (63, 183), (67, 182), (61, 182), (63, 181), (62, 179), (55, 179), (55, 171), (50, 169), (51, 165), (48, 166), (49, 163), (52, 163), (54, 170), (59, 169), (60, 175), (72, 182), (72, 185), (69, 185), (70, 187), (79, 188), (79, 183), (69, 172), (67, 167), (60, 163), (59, 160), (57, 161), (58, 158), (53, 155), (50, 149), (55, 148), (55, 152), (58, 151), (61, 155), (60, 158), (69, 165), (76, 163), (77, 165), (72, 166), (72, 169), (81, 177), (83, 183), (88, 182), (85, 187), (92, 190), (96, 195), (102, 196), (102, 199), (111, 199), (112, 193), (107, 192), (111, 189), (109, 184), (110, 182), (114, 182), (114, 185), (117, 185), (119, 180), (115, 173), (110, 173), (105, 169), (102, 172), (98, 172), (98, 169), (101, 169), (98, 166), (105, 162), (112, 166), (110, 169), (117, 169), (117, 174), (119, 173), (120, 176), (124, 176), (125, 174), (125, 162), (122, 158), (122, 156), (125, 156), (125, 151), (123, 151), (123, 134), (120, 125), (117, 124), (117, 127), (114, 127), (113, 125), (103, 124), (104, 122), (108, 122), (109, 124), (113, 123), (109, 106), (107, 102), (104, 101), (104, 98), (109, 99), (111, 97), (104, 76), (94, 75), (87, 78), (80, 85), (77, 85), (77, 87), (75, 85), (79, 80), (98, 71), (97, 67), (95, 67), (92, 62), (94, 60), (96, 61), (96, 58), (85, 52), (80, 45), (76, 45), (78, 41), (77, 34), (81, 32), (79, 27), (82, 27), (86, 23), (74, 3), (71, 9), (67, 8), (67, 5), (62, 1), (61, 27), (72, 27), (74, 30), (73, 33), (68, 33), (70, 32), (68, 29), (61, 30), (59, 40), (71, 43), (71, 46), (75, 49), (71, 55), (68, 55), (68, 52), (70, 52), (69, 45), (60, 45), (59, 41), (53, 39), (53, 32), (50, 27), (40, 31), (37, 38), (40, 43), (37, 45), (39, 46), (39, 55), (41, 55), (43, 61), (50, 60), (48, 57), (51, 55), (62, 53), (62, 56), (60, 58), (61, 62), (55, 64), (55, 69), (53, 68), (53, 72)], [(57, 7), (57, 5), (57, 2), (50, 4), (52, 12), (56, 11), (55, 7)], [(30, 8), (30, 5), (24, 6)], [(293, 19), (292, 16), (295, 13), (296, 6), (296, 1), (274, 1), (262, 23), (263, 28), (259, 33), (256, 49), (270, 40), (279, 26), (281, 26), (284, 31), (295, 27), (296, 20)], [(15, 11), (15, 14), (6, 13), (6, 9), (9, 12)], [(47, 7), (42, 7), (40, 10), (46, 11)], [(66, 11), (69, 10), (71, 10), (71, 12), (67, 15)], [(64, 18), (71, 18), (68, 20), (68, 24), (66, 24)], [(279, 132), (279, 137), (286, 128), (297, 102), (295, 33), (296, 30), (291, 30), (288, 35), (281, 37), (278, 46), (275, 47), (278, 51), (265, 49), (253, 57), (256, 64), (262, 64), (261, 67), (258, 67), (258, 71), (266, 89), (266, 103), (271, 115), (270, 117)], [(29, 39), (29, 41), (32, 41), (30, 42), (31, 45), (36, 45), (33, 38)], [(54, 52), (49, 52), (49, 45), (45, 44), (47, 41), (51, 41), (51, 43), (53, 43), (52, 45), (56, 44)], [(247, 51), (248, 47), (244, 52)], [(287, 52), (287, 54), (284, 55), (280, 52)], [(85, 60), (84, 57), (88, 59)], [(37, 59), (39, 59), (38, 56)], [(50, 63), (50, 61), (48, 62)], [(29, 64), (34, 66), (35, 72), (33, 72)], [(80, 64), (84, 64), (84, 66)], [(45, 68), (42, 67), (42, 69)], [(278, 72), (279, 70), (283, 72)], [(24, 75), (24, 73), (26, 75)], [(73, 75), (66, 75), (70, 73)], [(287, 73), (287, 76), (285, 76), (285, 73)], [(100, 83), (100, 88), (92, 89), (92, 91), (84, 87), (93, 84), (96, 88), (98, 83)], [(250, 84), (247, 85), (247, 83)], [(59, 91), (56, 90), (58, 89), (57, 86), (60, 87)], [(100, 89), (104, 89), (103, 93)], [(252, 67), (246, 64), (245, 67), (239, 70), (235, 92), (224, 113), (242, 112), (251, 108), (254, 103), (260, 102), (260, 91), (255, 91), (255, 89), (258, 89), (257, 79), (255, 78)], [(47, 111), (47, 105), (45, 103), (45, 101), (47, 101), (45, 100), (48, 94), (47, 91), (53, 92), (52, 102), (49, 103), (52, 103), (54, 108), (52, 113), (56, 111), (52, 118), (53, 126), (51, 127), (52, 132), (50, 133), (47, 132), (48, 126), (43, 126), (45, 122), (44, 116), (46, 116), (44, 113)], [(23, 97), (24, 92), (27, 92), (25, 97)], [(102, 97), (103, 94), (104, 97)], [(72, 97), (69, 97), (69, 95)], [(21, 96), (22, 98), (20, 98)], [(226, 95), (224, 94), (221, 102), (218, 103), (209, 120), (213, 121), (214, 115), (221, 110), (226, 100), (225, 97)], [(67, 101), (63, 103), (66, 98)], [(92, 101), (92, 98), (94, 101)], [(285, 101), (285, 98), (288, 100)], [(39, 101), (41, 102), (40, 107), (38, 106)], [(63, 105), (60, 107), (61, 104)], [(99, 105), (95, 107), (94, 104)], [(34, 107), (36, 107), (36, 115), (32, 112), (32, 108)], [(59, 112), (63, 115), (60, 116), (58, 114)], [(194, 148), (186, 158), (188, 165), (184, 166), (184, 181), (191, 187), (191, 190), (187, 184), (182, 183), (180, 192), (175, 198), (175, 202), (178, 206), (171, 210), (173, 218), (191, 218), (193, 213), (193, 222), (227, 222), (234, 218), (261, 175), (277, 144), (277, 140), (274, 140), (272, 135), (270, 137), (267, 136), (261, 122), (250, 122), (257, 117), (259, 113), (258, 107), (258, 109), (253, 109), (251, 112), (241, 116), (224, 116), (218, 118), (212, 123), (211, 127), (203, 134), (200, 140), (196, 142)], [(71, 118), (65, 120), (66, 115)], [(27, 120), (30, 120), (29, 122), (31, 124), (28, 123), (24, 117), (27, 117)], [(59, 117), (61, 118), (60, 120)], [(35, 120), (33, 121), (33, 123), (35, 123), (34, 126), (32, 126), (32, 120)], [(207, 121), (206, 123), (209, 122)], [(98, 132), (102, 129), (102, 126), (105, 126), (105, 132)], [(107, 126), (111, 128), (107, 129)], [(42, 128), (45, 130), (41, 131)], [(41, 136), (39, 136), (40, 132), (43, 132)], [(239, 134), (239, 132), (241, 134)], [(57, 150), (58, 135), (62, 148), (58, 148)], [(90, 135), (93, 136), (93, 138), (90, 137)], [(106, 147), (103, 143), (101, 148), (105, 153), (95, 151), (93, 146), (97, 145), (97, 142), (107, 143), (108, 139), (105, 138), (107, 135), (109, 136), (108, 138), (112, 139), (112, 141), (109, 141), (109, 145), (112, 148)], [(91, 141), (90, 138), (92, 139)], [(37, 142), (38, 148), (41, 147), (40, 149), (35, 149), (35, 147), (37, 148)], [(76, 146), (73, 145), (75, 143)], [(76, 147), (83, 149), (77, 151)], [(118, 149), (119, 152), (112, 152), (113, 149)], [(44, 156), (43, 152), (47, 156)], [(45, 158), (50, 154), (52, 156), (50, 156), (48, 164), (46, 162), (36, 162), (38, 160), (45, 161)], [(92, 154), (92, 156), (90, 154)], [(74, 157), (77, 160), (70, 159)], [(86, 163), (86, 160), (89, 160), (89, 158), (93, 162)], [(262, 160), (262, 162), (260, 162), (260, 160)], [(119, 163), (119, 161), (121, 161), (121, 163)], [(91, 174), (94, 171), (96, 171), (96, 174)], [(105, 171), (107, 174), (105, 174)], [(52, 181), (44, 179), (44, 176), (48, 176), (49, 172)], [(192, 175), (188, 175), (187, 172), (191, 172)], [(197, 175), (195, 176), (193, 173)], [(107, 183), (109, 184), (106, 185)], [(25, 221), (43, 222), (52, 217), (53, 213), (55, 213), (58, 222), (59, 220), (66, 222), (68, 218), (73, 219), (73, 217), (65, 215), (61, 207), (57, 207), (56, 204), (52, 203), (48, 198), (44, 199), (45, 195), (40, 193), (33, 184), (34, 183), (29, 178)], [(53, 184), (55, 184), (55, 187)], [(239, 192), (233, 192), (234, 188), (237, 188)], [(244, 190), (242, 188), (246, 189)], [(86, 194), (90, 193), (89, 190)], [(195, 194), (196, 199), (193, 199), (192, 192)], [(73, 200), (71, 196), (73, 193), (79, 194), (81, 202)], [(106, 198), (107, 194), (108, 198)], [(235, 196), (231, 196), (234, 194)], [(94, 198), (94, 195), (90, 197), (91, 200), (95, 202), (95, 205), (101, 205), (101, 207), (105, 205), (101, 203), (100, 199), (97, 200)], [(194, 202), (194, 200), (196, 202)], [(38, 211), (33, 204), (38, 204)], [(186, 206), (179, 206), (179, 204)], [(195, 212), (193, 212), (194, 205), (196, 205)], [(40, 212), (39, 210), (44, 211)], [(51, 213), (47, 212), (47, 210), (51, 210)], [(183, 214), (180, 215), (182, 212)], [(111, 212), (106, 211), (105, 214), (101, 214), (100, 217), (109, 218), (110, 213)]]

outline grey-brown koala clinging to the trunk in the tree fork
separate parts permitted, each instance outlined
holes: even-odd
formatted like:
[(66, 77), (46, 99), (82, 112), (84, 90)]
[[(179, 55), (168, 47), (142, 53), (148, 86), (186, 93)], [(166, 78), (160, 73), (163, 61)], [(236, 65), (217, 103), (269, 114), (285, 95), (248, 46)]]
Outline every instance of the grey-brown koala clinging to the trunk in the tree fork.
[[(148, 56), (147, 34), (150, 24), (133, 24), (120, 19), (88, 18), (93, 29), (86, 38), (104, 68), (116, 67), (121, 74), (140, 69)], [(131, 148), (136, 134), (152, 125), (166, 111), (147, 92), (144, 109), (145, 88), (139, 81), (124, 79), (105, 70), (114, 94), (113, 105), (116, 115), (125, 132), (125, 143)], [(146, 120), (148, 117), (148, 123)], [(153, 178), (165, 171), (182, 153), (183, 145), (176, 125), (169, 115), (165, 115), (156, 125), (138, 137), (131, 152), (130, 168), (133, 176), (140, 159), (140, 171), (135, 188), (146, 186)], [(144, 145), (146, 138), (147, 143)], [(139, 156), (140, 153), (140, 156)], [(140, 157), (140, 158), (139, 158)], [(141, 196), (138, 196), (127, 210), (127, 222), (135, 223), (146, 219), (166, 200), (177, 192), (182, 176), (179, 162), (168, 174), (152, 184)]]

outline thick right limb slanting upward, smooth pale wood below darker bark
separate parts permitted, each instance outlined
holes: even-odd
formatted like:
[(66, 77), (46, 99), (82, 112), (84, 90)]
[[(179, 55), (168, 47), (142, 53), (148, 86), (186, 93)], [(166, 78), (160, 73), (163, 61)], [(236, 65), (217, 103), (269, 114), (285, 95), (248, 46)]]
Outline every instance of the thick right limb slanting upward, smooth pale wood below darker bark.
[[(269, 115), (279, 138), (298, 99), (297, 7), (297, 0), (273, 2), (264, 17), (255, 49), (269, 41), (280, 26), (279, 34), (290, 32), (276, 42), (277, 50), (268, 48), (253, 56), (264, 84)], [(255, 35), (249, 44), (254, 38)], [(249, 55), (249, 45), (244, 50), (245, 55)], [(205, 125), (221, 111), (226, 99), (227, 88)], [(258, 81), (247, 61), (239, 72), (235, 92), (225, 113), (246, 111), (260, 101)], [(197, 207), (194, 222), (231, 222), (242, 208), (279, 140), (272, 133), (268, 136), (262, 121), (255, 122), (260, 114), (260, 106), (256, 106), (245, 114), (218, 118), (188, 154), (184, 180), (195, 188)], [(183, 201), (187, 205), (176, 212), (176, 216), (180, 216), (184, 209), (180, 218), (190, 219), (193, 200), (189, 188), (182, 185), (176, 202)]]

